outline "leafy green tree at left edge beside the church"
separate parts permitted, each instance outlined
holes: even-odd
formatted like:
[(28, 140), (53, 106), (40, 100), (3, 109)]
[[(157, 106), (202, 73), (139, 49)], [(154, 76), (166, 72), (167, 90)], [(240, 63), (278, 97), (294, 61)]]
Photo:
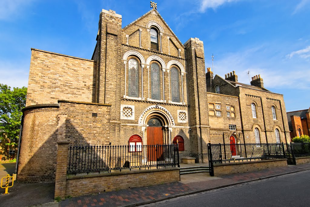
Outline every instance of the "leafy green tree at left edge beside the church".
[(6, 137), (6, 145), (17, 145), (22, 109), (26, 106), (27, 88), (13, 88), (0, 83), (0, 137)]

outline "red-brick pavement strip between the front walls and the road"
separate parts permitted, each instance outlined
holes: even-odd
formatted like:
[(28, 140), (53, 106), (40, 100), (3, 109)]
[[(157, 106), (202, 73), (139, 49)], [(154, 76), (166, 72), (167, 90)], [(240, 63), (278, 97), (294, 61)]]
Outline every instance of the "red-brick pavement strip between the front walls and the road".
[[(250, 182), (253, 180), (282, 174), (299, 172), (307, 169), (310, 169), (310, 164), (265, 169), (251, 173), (237, 173), (221, 176), (219, 179), (202, 179), (199, 182), (195, 179), (193, 180), (194, 182), (188, 182), (186, 184), (182, 182), (174, 182), (149, 187), (128, 188), (119, 191), (103, 192), (95, 195), (66, 199), (61, 201), (59, 206), (138, 206), (178, 196), (236, 185), (243, 182)], [(208, 176), (208, 174), (201, 173), (201, 176)], [(181, 181), (182, 178), (189, 179), (188, 176), (181, 176)]]

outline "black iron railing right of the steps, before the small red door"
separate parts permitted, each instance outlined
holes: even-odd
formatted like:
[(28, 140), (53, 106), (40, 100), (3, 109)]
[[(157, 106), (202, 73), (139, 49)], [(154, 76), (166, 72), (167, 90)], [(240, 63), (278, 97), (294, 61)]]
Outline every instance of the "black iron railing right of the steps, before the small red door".
[(213, 164), (286, 158), (283, 143), (208, 144), (210, 175)]

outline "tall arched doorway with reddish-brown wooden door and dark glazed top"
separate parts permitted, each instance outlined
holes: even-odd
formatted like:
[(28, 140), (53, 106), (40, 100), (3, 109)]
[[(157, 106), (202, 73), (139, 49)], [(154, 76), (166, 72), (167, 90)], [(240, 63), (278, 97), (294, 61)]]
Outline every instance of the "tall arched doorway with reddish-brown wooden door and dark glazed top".
[(148, 161), (159, 161), (163, 159), (163, 149), (158, 145), (163, 145), (163, 122), (158, 117), (152, 117), (148, 120), (147, 127), (147, 145)]

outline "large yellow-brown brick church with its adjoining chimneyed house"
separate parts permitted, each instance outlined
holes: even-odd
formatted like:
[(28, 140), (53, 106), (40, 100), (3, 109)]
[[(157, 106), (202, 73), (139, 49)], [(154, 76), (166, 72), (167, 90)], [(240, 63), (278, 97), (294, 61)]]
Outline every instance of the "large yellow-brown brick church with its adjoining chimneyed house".
[[(17, 178), (55, 181), (57, 142), (156, 145), (208, 162), (207, 143), (290, 140), (283, 95), (208, 69), (203, 42), (184, 44), (156, 9), (122, 28), (100, 12), (90, 60), (31, 49)], [(91, 54), (90, 54), (91, 56)], [(131, 141), (133, 142), (133, 141)]]

